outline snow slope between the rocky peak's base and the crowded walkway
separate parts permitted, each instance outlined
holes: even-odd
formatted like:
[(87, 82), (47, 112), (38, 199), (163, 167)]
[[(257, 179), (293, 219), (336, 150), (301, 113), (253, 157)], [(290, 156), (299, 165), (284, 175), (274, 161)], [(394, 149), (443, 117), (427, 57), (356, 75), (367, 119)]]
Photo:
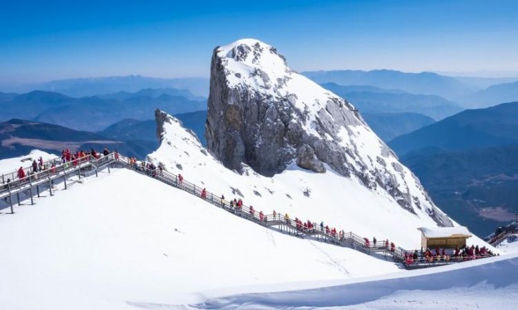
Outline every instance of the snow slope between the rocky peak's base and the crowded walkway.
[[(370, 239), (389, 238), (405, 249), (421, 247), (419, 227), (437, 227), (425, 211), (416, 215), (405, 211), (386, 191), (369, 189), (354, 177), (338, 175), (329, 166), (326, 173), (313, 173), (291, 164), (274, 177), (264, 177), (251, 168), (245, 168), (242, 175), (230, 171), (182, 128), (178, 119), (168, 118), (160, 148), (148, 159), (161, 163), (167, 171), (182, 174), (189, 182), (221, 193), (227, 200), (242, 197), (244, 204), (267, 214), (276, 210), (304, 221), (324, 221)], [(477, 237), (468, 242), (488, 246)]]

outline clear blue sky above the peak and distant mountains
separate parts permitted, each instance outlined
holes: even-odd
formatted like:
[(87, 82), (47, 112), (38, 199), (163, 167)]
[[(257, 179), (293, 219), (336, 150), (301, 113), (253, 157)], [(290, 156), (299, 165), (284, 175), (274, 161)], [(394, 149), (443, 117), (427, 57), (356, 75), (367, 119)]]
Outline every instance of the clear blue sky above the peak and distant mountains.
[(244, 37), (300, 71), (518, 75), (518, 1), (4, 0), (0, 82), (208, 77), (213, 48)]

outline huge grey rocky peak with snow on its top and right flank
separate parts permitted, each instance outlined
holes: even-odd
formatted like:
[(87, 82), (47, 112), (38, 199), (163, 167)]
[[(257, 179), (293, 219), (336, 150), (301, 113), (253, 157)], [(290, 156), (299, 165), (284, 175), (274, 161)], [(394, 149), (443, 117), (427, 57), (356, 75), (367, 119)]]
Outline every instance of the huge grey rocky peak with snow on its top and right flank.
[(208, 108), (207, 146), (227, 168), (272, 176), (291, 162), (316, 173), (328, 166), (452, 224), (352, 104), (291, 70), (272, 46), (244, 39), (215, 48)]

